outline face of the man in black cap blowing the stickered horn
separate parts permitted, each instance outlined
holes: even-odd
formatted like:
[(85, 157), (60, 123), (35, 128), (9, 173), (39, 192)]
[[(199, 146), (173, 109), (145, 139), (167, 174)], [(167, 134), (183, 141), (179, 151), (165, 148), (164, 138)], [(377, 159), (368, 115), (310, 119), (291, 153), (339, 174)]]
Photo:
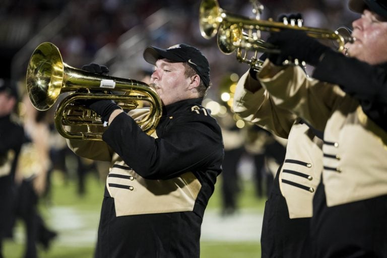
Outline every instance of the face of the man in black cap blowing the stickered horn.
[(154, 84), (164, 105), (187, 99), (191, 92), (191, 78), (186, 77), (182, 62), (157, 60), (151, 76), (151, 84)]

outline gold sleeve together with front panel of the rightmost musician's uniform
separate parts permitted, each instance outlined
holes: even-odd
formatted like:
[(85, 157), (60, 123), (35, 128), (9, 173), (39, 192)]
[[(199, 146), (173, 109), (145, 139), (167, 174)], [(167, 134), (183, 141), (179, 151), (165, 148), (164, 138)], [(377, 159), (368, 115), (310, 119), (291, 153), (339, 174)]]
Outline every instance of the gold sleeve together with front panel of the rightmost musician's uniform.
[(281, 69), (271, 71), (267, 60), (261, 83), (274, 103), (325, 130), (322, 178), (327, 205), (387, 195), (387, 133), (338, 85), (307, 78), (299, 67)]

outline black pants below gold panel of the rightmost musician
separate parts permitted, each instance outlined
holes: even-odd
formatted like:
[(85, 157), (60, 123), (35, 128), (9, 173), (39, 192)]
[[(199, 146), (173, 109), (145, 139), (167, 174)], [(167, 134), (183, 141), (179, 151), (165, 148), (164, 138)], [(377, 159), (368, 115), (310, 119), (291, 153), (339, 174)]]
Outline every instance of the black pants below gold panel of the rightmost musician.
[(387, 196), (327, 207), (320, 183), (311, 235), (316, 258), (387, 257)]

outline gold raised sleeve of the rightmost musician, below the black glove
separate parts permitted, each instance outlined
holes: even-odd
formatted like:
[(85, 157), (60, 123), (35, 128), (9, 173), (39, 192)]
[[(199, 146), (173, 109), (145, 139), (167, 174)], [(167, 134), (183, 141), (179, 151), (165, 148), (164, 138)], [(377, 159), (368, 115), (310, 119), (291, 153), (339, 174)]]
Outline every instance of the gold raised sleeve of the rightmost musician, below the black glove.
[(308, 78), (299, 66), (287, 66), (275, 74), (272, 69), (273, 64), (267, 60), (259, 79), (274, 104), (324, 131), (333, 107), (345, 93), (338, 86)]

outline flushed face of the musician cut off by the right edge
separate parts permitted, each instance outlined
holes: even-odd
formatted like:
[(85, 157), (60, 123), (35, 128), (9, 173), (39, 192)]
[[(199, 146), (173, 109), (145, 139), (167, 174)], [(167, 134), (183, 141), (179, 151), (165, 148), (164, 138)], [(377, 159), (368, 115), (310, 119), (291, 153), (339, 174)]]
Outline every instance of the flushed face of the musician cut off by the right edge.
[(348, 54), (370, 64), (387, 61), (387, 20), (364, 10), (361, 18), (352, 23), (353, 44), (347, 44)]

